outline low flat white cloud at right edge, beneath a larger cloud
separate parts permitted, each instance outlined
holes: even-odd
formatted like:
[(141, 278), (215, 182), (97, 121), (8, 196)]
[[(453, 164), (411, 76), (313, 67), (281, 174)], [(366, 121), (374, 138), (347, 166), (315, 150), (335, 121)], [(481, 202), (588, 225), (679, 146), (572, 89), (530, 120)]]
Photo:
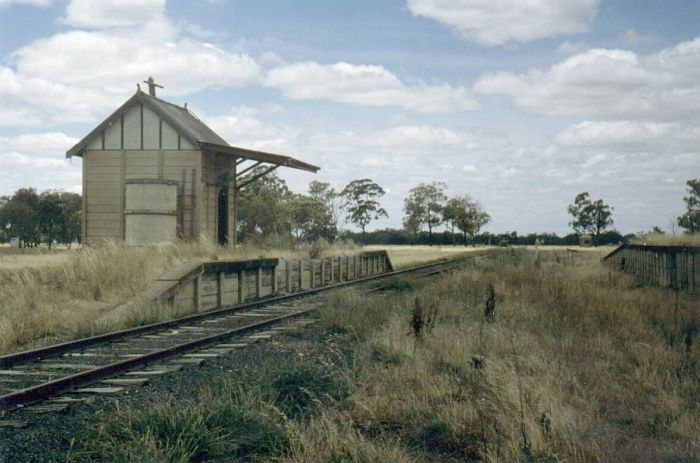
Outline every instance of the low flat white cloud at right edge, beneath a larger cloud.
[(616, 152), (696, 153), (700, 160), (700, 126), (635, 121), (584, 121), (557, 134), (564, 148), (592, 148)]

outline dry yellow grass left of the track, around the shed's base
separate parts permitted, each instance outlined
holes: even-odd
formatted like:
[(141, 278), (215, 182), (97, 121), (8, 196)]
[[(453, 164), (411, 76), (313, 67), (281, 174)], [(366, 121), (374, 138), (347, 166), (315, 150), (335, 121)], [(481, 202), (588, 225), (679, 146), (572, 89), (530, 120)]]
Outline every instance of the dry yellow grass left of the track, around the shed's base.
[[(0, 353), (182, 315), (138, 296), (169, 268), (185, 262), (258, 257), (302, 258), (354, 252), (353, 246), (279, 249), (207, 242), (0, 255)], [(131, 301), (128, 305), (122, 305)]]

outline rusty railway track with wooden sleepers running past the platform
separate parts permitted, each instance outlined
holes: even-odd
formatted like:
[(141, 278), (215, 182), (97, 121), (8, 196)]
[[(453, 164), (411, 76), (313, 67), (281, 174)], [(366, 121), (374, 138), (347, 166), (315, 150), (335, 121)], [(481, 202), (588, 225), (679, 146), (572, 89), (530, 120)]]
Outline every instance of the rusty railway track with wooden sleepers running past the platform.
[(436, 278), (477, 258), (503, 254), (463, 256), (5, 355), (0, 357), (0, 413), (27, 407), (62, 411), (89, 394), (117, 393), (154, 375), (224, 355), (269, 338), (290, 322), (310, 322), (303, 317), (320, 308), (332, 289), (365, 285), (371, 286), (367, 292), (380, 291), (391, 285), (372, 284), (398, 275)]

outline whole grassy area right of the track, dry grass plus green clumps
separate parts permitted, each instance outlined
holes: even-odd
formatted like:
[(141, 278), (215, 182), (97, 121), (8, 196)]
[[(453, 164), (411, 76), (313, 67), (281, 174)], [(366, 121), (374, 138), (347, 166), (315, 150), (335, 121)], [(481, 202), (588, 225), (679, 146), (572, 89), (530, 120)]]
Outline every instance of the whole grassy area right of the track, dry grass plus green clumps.
[[(697, 297), (639, 286), (596, 253), (502, 264), (397, 281), (389, 296), (336, 292), (320, 315), (352, 362), (335, 381), (317, 364), (293, 380), (280, 366), (253, 394), (107, 414), (97, 450), (82, 445), (91, 461), (228, 461), (241, 420), (223, 422), (225, 409), (276, 436), (234, 461), (700, 461)], [(300, 415), (280, 397), (315, 406)]]

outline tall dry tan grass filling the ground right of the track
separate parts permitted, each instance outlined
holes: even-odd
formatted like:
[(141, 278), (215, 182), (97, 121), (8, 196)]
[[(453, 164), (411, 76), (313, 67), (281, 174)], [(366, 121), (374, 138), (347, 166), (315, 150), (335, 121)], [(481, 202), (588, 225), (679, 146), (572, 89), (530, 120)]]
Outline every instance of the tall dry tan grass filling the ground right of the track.
[[(349, 419), (443, 461), (697, 461), (698, 299), (676, 305), (594, 257), (549, 254), (538, 271), (422, 289), (440, 318), (420, 342), (408, 335), (415, 294), (387, 306), (339, 293), (323, 316), (361, 341)], [(494, 323), (483, 320), (488, 284)]]

